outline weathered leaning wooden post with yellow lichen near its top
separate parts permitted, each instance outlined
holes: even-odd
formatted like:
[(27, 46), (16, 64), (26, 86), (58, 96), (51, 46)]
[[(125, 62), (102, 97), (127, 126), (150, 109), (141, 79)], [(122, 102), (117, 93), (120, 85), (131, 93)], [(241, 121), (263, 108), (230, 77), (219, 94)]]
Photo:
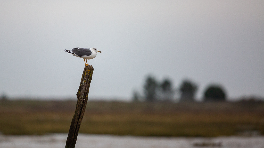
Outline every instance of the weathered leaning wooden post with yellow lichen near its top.
[(86, 108), (90, 83), (93, 76), (93, 66), (88, 65), (84, 67), (81, 83), (77, 92), (76, 109), (70, 125), (69, 134), (66, 141), (65, 148), (74, 148), (78, 136), (78, 132), (82, 123), (84, 111)]

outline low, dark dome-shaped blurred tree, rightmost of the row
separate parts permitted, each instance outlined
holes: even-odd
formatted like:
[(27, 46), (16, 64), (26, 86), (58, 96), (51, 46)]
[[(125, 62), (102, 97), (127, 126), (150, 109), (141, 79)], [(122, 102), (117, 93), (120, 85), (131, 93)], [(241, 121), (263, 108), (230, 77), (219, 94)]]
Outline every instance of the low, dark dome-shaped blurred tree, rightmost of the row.
[(219, 85), (210, 85), (204, 92), (205, 101), (225, 101), (225, 92)]

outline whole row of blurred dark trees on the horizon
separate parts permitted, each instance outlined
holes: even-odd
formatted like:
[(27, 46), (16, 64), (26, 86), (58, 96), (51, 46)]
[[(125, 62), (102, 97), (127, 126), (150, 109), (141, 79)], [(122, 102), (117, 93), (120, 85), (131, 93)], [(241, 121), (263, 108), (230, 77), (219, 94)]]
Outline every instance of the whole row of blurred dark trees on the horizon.
[[(134, 101), (164, 101), (169, 102), (175, 99), (175, 95), (179, 95), (180, 102), (195, 101), (195, 95), (198, 90), (198, 85), (191, 80), (185, 79), (181, 82), (178, 88), (173, 88), (172, 81), (165, 78), (161, 82), (155, 77), (148, 76), (143, 85), (143, 95), (134, 91)], [(204, 91), (203, 101), (225, 101), (226, 94), (222, 86), (209, 85)]]

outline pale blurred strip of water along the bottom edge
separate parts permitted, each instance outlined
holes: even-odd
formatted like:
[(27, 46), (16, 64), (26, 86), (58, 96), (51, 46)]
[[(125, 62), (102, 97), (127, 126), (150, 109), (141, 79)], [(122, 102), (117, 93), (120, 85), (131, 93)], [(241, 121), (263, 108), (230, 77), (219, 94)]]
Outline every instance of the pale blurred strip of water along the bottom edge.
[[(67, 134), (0, 135), (0, 148), (64, 148)], [(264, 148), (264, 136), (256, 137), (140, 137), (79, 134), (76, 148)]]

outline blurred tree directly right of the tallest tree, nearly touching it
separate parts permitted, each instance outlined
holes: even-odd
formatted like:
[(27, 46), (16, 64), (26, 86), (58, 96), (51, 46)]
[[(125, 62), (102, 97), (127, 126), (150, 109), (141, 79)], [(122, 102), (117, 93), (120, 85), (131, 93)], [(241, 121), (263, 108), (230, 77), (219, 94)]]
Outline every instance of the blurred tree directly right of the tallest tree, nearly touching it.
[(174, 91), (172, 88), (172, 82), (169, 79), (164, 79), (160, 85), (162, 101), (172, 101)]

